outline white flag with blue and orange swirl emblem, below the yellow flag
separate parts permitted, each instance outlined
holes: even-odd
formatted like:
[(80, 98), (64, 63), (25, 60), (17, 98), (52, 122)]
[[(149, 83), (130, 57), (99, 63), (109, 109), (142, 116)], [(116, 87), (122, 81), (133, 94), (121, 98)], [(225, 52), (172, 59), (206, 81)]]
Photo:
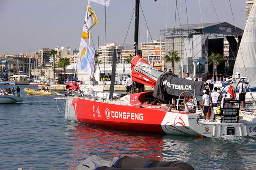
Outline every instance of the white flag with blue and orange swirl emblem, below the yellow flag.
[(81, 38), (76, 68), (90, 75), (93, 72), (95, 50)]

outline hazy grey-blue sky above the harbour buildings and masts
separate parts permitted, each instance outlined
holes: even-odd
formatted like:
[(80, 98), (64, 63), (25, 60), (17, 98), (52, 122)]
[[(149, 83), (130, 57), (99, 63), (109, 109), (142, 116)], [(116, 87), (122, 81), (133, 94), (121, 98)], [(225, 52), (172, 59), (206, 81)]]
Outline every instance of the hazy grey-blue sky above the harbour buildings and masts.
[[(245, 0), (140, 0), (139, 42), (147, 42), (146, 23), (152, 39), (159, 39), (159, 30), (174, 27), (174, 24), (200, 24), (228, 22), (241, 29), (245, 27)], [(235, 22), (232, 17), (230, 3)], [(42, 48), (79, 48), (87, 0), (0, 0), (0, 54), (33, 53)], [(117, 43), (122, 45), (128, 30), (135, 0), (110, 0), (105, 6), (91, 2), (99, 22), (91, 29), (91, 46)], [(201, 9), (201, 10), (200, 10)], [(132, 45), (134, 17), (125, 44)], [(151, 38), (149, 37), (149, 42)]]

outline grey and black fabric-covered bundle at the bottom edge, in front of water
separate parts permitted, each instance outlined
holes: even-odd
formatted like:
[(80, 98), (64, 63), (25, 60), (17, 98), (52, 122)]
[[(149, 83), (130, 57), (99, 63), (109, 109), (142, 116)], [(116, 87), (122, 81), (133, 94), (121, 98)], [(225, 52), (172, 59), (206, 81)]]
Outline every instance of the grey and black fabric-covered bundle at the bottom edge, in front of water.
[(76, 170), (194, 170), (186, 162), (158, 161), (152, 158), (114, 157), (106, 161), (99, 156), (91, 156), (82, 161)]

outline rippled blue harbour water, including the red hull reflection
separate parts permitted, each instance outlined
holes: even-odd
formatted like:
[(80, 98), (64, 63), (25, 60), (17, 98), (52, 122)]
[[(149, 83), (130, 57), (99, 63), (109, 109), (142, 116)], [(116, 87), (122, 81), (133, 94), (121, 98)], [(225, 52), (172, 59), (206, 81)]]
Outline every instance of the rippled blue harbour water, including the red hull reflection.
[(202, 139), (69, 122), (64, 120), (64, 101), (57, 107), (56, 96), (26, 95), (26, 87), (37, 88), (20, 86), (23, 102), (0, 105), (1, 170), (72, 170), (92, 155), (185, 161), (197, 170), (256, 169), (255, 136)]

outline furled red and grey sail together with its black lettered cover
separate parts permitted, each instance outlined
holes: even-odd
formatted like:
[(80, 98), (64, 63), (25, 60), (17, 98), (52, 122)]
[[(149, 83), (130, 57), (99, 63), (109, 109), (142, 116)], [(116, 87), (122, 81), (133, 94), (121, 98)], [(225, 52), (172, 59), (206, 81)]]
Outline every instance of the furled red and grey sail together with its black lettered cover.
[(186, 80), (185, 78), (178, 78), (174, 74), (165, 73), (155, 69), (148, 62), (140, 58), (137, 54), (131, 61), (131, 76), (133, 81), (155, 87), (154, 96), (162, 99), (164, 92), (170, 95), (179, 96), (182, 92), (185, 95), (203, 95), (203, 90), (210, 90), (209, 84), (203, 81)]

